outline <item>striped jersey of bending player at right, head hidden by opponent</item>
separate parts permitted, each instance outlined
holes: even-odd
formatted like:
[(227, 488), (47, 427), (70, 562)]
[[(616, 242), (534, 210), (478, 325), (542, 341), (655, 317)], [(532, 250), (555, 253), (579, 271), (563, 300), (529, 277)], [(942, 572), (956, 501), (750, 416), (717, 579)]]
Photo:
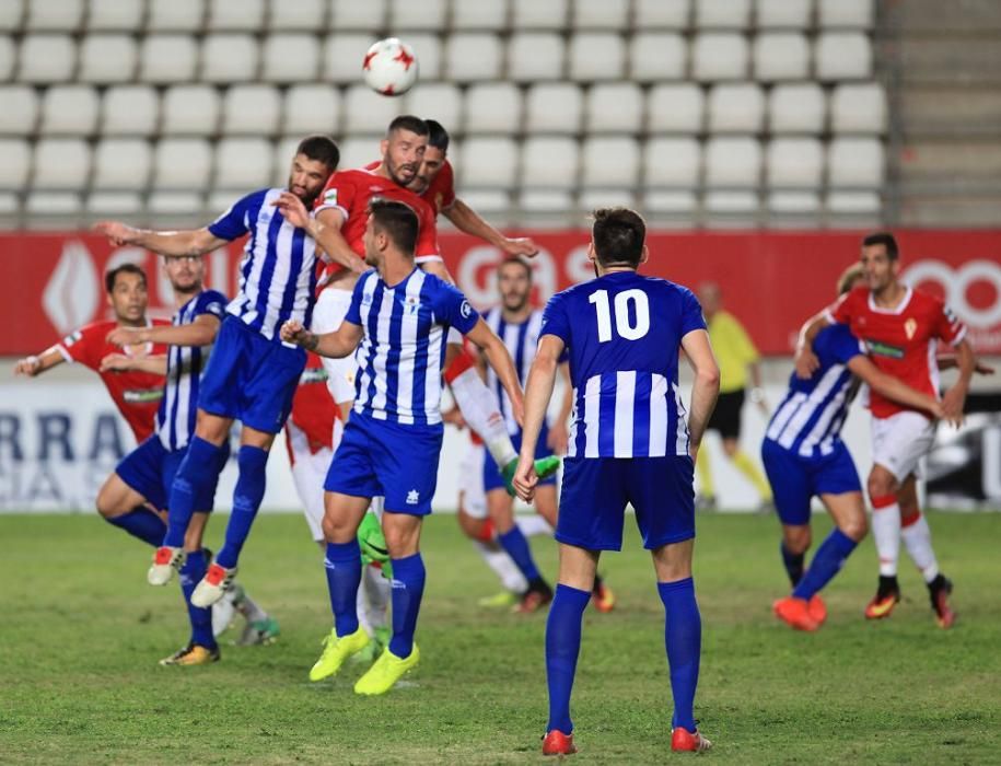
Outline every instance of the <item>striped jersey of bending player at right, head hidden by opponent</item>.
[(814, 353), (820, 367), (810, 380), (793, 373), (789, 392), (776, 409), (765, 438), (801, 457), (819, 457), (834, 452), (848, 417), (852, 374), (848, 362), (865, 353), (862, 343), (848, 325), (831, 325), (817, 334)]

